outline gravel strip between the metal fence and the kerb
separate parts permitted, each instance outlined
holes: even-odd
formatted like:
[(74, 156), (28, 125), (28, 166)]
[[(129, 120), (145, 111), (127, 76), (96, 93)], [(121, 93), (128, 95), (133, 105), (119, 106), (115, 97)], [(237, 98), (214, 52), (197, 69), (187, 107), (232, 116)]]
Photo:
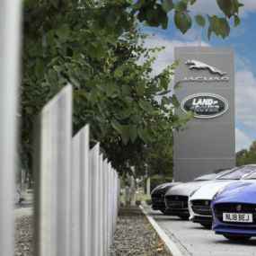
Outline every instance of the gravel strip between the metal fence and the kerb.
[(146, 216), (137, 209), (121, 209), (110, 255), (170, 256)]

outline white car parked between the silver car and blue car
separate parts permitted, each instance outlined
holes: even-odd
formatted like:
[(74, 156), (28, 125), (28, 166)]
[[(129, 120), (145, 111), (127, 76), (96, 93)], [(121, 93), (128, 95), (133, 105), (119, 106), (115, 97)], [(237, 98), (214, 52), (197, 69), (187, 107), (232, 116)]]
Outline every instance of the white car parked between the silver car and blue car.
[[(243, 179), (256, 171), (256, 164), (243, 165), (234, 172), (223, 175), (211, 183), (194, 190), (189, 197), (190, 220), (207, 228), (212, 225), (211, 201), (226, 185)], [(247, 180), (248, 181), (248, 180)]]

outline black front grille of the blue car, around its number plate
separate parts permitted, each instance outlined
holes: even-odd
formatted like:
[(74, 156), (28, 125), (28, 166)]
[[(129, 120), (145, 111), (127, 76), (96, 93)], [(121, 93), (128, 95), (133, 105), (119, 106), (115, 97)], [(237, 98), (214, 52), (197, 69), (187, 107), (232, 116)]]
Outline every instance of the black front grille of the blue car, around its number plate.
[[(236, 210), (237, 205), (242, 206), (239, 212)], [(220, 222), (223, 222), (223, 213), (251, 213), (253, 216), (253, 224), (256, 224), (256, 205), (254, 204), (219, 203), (214, 206), (214, 212)], [(238, 222), (233, 222), (233, 224), (242, 225), (242, 223)], [(243, 225), (252, 225), (252, 223), (243, 223)]]

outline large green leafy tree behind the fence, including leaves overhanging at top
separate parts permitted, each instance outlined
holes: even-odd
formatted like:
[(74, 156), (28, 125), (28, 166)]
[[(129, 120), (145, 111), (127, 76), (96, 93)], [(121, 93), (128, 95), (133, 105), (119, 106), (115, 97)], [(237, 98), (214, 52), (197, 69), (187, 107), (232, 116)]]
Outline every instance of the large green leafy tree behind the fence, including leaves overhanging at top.
[[(101, 142), (102, 151), (119, 172), (128, 172), (131, 165), (142, 170), (146, 146), (157, 142), (163, 131), (181, 128), (182, 121), (172, 111), (178, 105), (175, 96), (167, 96), (176, 64), (152, 77), (154, 57), (149, 53), (158, 49), (144, 48), (145, 37), (137, 29), (136, 17), (158, 26), (173, 11), (177, 28), (185, 32), (190, 28), (184, 25), (189, 19), (188, 7), (194, 2), (181, 0), (172, 7), (172, 1), (24, 0), (23, 161), (30, 165), (36, 115), (60, 88), (71, 83), (74, 132), (89, 123), (92, 143)], [(237, 24), (241, 4), (236, 0), (217, 2), (224, 19), (234, 17)], [(209, 28), (225, 37), (229, 30), (222, 23), (219, 18), (209, 20)], [(220, 27), (225, 27), (221, 33)], [(145, 63), (138, 65), (141, 56)], [(156, 95), (162, 95), (160, 102)]]

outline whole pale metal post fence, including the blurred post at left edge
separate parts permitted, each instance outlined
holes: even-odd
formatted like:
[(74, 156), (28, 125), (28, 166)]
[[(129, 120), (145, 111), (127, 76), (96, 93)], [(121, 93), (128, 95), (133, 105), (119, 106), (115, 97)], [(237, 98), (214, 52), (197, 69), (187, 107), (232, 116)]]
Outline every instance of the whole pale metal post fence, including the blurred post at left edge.
[[(0, 256), (13, 255), (13, 191), (22, 1), (0, 1)], [(110, 254), (119, 178), (89, 127), (72, 137), (72, 86), (41, 111), (35, 150), (35, 255)]]

